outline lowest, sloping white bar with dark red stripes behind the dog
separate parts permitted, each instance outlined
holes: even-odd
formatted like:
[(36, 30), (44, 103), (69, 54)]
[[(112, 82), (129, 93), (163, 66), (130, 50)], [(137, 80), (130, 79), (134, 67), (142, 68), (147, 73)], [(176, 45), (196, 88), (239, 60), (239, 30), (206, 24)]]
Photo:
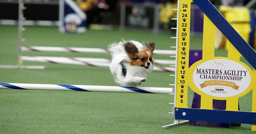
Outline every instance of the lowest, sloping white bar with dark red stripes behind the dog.
[[(87, 65), (96, 67), (109, 67), (110, 62), (97, 62), (97, 61), (83, 61), (82, 58), (66, 58), (66, 57), (42, 57), (42, 56), (22, 56), (24, 61), (33, 62), (48, 62), (48, 63), (58, 63), (58, 64), (73, 64), (73, 65)], [(154, 71), (166, 71), (175, 72), (175, 67), (156, 67), (154, 66)]]

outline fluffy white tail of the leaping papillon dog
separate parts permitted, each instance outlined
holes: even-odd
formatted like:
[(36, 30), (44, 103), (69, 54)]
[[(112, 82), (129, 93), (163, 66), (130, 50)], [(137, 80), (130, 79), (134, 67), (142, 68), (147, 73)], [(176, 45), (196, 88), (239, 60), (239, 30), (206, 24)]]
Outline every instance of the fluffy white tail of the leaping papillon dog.
[(113, 43), (113, 44), (110, 44), (108, 46), (108, 49), (112, 55), (112, 59), (114, 58), (115, 55), (118, 55), (119, 53), (125, 53), (125, 50), (124, 50), (124, 47), (123, 47), (123, 44), (125, 43), (126, 41), (123, 40), (123, 42), (119, 42), (119, 43)]

